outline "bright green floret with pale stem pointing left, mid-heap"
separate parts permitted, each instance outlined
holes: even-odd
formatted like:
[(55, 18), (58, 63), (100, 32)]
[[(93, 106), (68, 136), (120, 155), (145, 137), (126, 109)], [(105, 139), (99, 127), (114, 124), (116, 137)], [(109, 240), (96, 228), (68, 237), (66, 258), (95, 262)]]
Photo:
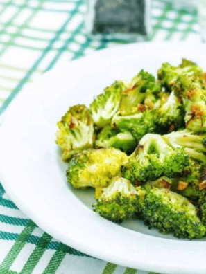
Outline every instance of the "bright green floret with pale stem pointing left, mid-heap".
[(130, 131), (138, 142), (145, 134), (155, 131), (155, 123), (155, 113), (148, 109), (129, 116), (121, 116), (120, 113), (116, 113), (112, 119), (114, 127)]

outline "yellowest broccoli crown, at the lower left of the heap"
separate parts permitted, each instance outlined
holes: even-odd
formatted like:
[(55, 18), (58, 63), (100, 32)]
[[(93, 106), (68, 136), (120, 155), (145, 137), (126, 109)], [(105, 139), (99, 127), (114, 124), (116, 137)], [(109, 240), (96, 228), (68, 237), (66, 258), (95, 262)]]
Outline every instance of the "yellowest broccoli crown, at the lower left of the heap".
[(126, 159), (126, 154), (113, 147), (85, 150), (71, 158), (67, 181), (76, 189), (105, 187), (112, 177), (121, 175)]

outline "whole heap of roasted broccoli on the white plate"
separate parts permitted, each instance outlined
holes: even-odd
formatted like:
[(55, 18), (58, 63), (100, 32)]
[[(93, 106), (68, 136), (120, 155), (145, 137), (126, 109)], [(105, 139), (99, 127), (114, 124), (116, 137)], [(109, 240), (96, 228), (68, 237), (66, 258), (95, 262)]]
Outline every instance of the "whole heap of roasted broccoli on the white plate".
[(58, 122), (56, 143), (74, 188), (94, 188), (94, 211), (135, 217), (178, 238), (206, 235), (206, 73), (183, 59), (114, 82)]

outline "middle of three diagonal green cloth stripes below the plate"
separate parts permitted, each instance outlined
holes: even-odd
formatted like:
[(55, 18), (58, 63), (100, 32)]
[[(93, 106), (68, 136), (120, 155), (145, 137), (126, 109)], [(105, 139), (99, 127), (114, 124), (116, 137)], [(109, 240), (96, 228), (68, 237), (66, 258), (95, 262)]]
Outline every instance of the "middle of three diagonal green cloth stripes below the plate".
[(28, 261), (24, 265), (24, 268), (22, 268), (22, 271), (19, 274), (31, 274), (37, 263), (40, 261), (42, 255), (44, 254), (44, 251), (46, 247), (49, 245), (49, 242), (51, 241), (51, 236), (46, 234), (42, 235), (40, 238), (40, 241), (38, 242), (37, 246), (35, 247), (35, 250), (29, 257)]

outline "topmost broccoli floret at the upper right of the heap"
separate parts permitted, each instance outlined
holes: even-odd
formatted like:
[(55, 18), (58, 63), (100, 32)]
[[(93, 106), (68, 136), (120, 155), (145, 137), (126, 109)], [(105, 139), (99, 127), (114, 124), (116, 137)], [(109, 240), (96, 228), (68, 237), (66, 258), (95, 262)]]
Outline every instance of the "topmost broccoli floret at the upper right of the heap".
[(157, 76), (162, 86), (170, 91), (177, 77), (183, 73), (189, 76), (198, 76), (203, 73), (203, 70), (193, 62), (182, 59), (182, 64), (179, 66), (171, 66), (169, 63), (162, 64), (162, 67), (157, 72)]

